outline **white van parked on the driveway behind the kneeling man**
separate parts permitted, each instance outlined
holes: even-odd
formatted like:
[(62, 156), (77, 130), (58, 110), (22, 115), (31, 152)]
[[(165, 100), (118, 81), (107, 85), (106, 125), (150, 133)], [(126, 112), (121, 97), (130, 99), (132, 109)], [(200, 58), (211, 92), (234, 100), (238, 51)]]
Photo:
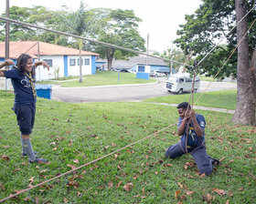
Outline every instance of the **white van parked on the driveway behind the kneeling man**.
[[(169, 92), (174, 92), (177, 94), (182, 94), (183, 92), (190, 92), (192, 89), (193, 78), (189, 74), (175, 74), (167, 77), (166, 89)], [(200, 87), (199, 76), (195, 77), (194, 92), (196, 93)]]

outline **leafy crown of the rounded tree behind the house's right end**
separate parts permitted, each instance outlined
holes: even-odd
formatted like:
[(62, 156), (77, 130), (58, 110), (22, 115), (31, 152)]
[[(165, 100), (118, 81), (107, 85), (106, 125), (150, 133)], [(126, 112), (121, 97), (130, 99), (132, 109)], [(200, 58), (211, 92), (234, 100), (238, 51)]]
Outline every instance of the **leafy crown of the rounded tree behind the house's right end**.
[[(101, 11), (106, 14), (106, 10)], [(133, 10), (117, 9), (107, 11), (109, 14), (105, 15), (105, 19), (108, 19), (108, 21), (102, 27), (98, 40), (115, 46), (144, 51), (144, 38), (138, 32), (138, 23), (141, 19), (134, 15)], [(101, 45), (96, 45), (95, 51), (100, 53), (102, 58), (107, 58), (109, 69), (112, 67), (113, 58), (127, 59), (130, 56), (135, 56), (135, 54), (128, 51)]]

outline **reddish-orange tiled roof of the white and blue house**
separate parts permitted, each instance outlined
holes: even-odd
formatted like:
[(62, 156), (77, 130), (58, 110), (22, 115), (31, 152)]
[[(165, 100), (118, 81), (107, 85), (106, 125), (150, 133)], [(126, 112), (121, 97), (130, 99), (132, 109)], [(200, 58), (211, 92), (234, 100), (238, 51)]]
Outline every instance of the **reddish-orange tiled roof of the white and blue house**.
[[(39, 45), (39, 46), (38, 46)], [(79, 56), (80, 50), (66, 46), (58, 46), (39, 41), (16, 41), (9, 43), (9, 57), (18, 58), (23, 53), (37, 58), (38, 50), (40, 56)], [(97, 53), (89, 51), (81, 51), (82, 56), (100, 56)], [(0, 42), (0, 57), (5, 58), (5, 42)]]

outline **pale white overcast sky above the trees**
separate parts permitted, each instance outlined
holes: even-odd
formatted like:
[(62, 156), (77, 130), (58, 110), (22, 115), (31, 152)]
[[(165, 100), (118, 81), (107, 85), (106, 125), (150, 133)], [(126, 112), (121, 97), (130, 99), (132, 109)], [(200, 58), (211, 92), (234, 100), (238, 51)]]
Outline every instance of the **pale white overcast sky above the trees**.
[[(6, 0), (0, 0), (0, 14), (5, 12)], [(149, 35), (149, 50), (162, 53), (167, 48), (175, 47), (172, 41), (176, 39), (179, 25), (185, 24), (185, 15), (193, 14), (201, 0), (83, 0), (88, 8), (129, 9), (142, 19), (139, 32), (144, 39)], [(3, 4), (4, 3), (4, 4)], [(31, 7), (43, 5), (49, 10), (60, 10), (61, 5), (67, 5), (72, 11), (80, 7), (80, 0), (9, 0), (10, 7)], [(146, 45), (145, 45), (146, 46)]]

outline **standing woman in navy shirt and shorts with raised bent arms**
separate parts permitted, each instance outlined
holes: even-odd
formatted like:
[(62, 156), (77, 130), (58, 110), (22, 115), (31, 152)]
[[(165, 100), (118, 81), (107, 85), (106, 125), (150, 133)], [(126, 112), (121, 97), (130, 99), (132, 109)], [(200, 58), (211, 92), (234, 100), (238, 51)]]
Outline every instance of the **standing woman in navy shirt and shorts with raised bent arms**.
[[(0, 68), (14, 65), (13, 60), (7, 59)], [(15, 90), (14, 111), (16, 113), (17, 124), (21, 132), (22, 155), (28, 156), (29, 163), (46, 163), (43, 158), (37, 158), (31, 146), (30, 134), (34, 127), (36, 115), (37, 91), (36, 67), (44, 66), (49, 70), (45, 61), (38, 61), (33, 64), (33, 59), (27, 54), (22, 54), (17, 58), (16, 66), (10, 70), (0, 69), (0, 76), (12, 79)]]

